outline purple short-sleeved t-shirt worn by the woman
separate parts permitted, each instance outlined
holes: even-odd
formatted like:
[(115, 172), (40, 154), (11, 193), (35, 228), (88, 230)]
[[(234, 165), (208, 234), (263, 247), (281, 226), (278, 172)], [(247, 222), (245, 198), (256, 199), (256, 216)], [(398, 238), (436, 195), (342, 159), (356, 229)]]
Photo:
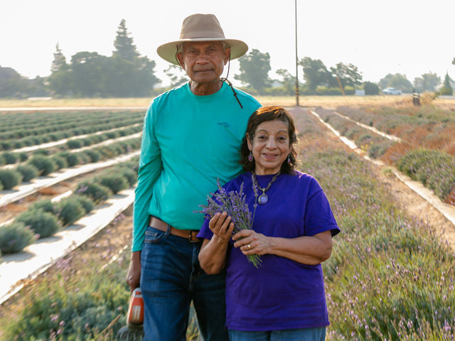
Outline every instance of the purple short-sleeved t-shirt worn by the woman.
[[(273, 175), (257, 175), (267, 187)], [(226, 183), (228, 192), (240, 190), (254, 211), (251, 173)], [(259, 191), (259, 195), (260, 195)], [(253, 221), (256, 232), (272, 237), (313, 236), (340, 229), (319, 183), (311, 175), (282, 174), (266, 192), (269, 201), (257, 205)], [(198, 234), (210, 239), (208, 219)], [(232, 242), (232, 241), (231, 241)], [(234, 330), (282, 330), (329, 325), (321, 264), (305, 265), (272, 254), (261, 256), (256, 269), (235, 247), (230, 248), (226, 276), (226, 327)]]

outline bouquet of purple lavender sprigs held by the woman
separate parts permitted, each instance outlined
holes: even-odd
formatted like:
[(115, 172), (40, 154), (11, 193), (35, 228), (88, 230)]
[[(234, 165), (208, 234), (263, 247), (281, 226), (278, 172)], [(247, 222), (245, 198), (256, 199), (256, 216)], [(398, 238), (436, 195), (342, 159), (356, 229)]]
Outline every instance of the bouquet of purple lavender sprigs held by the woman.
[[(221, 187), (220, 180), (217, 180), (218, 192), (210, 193), (207, 199), (207, 205), (200, 205), (203, 209), (198, 211), (204, 215), (213, 217), (217, 212), (226, 212), (231, 217), (231, 222), (234, 223), (234, 231), (232, 234), (239, 232), (241, 229), (252, 229), (251, 212), (245, 202), (245, 193), (243, 193), (243, 183), (240, 185), (240, 190), (237, 192), (232, 190), (226, 192)], [(255, 204), (255, 208), (256, 208)], [(253, 213), (254, 215), (254, 213)], [(259, 254), (250, 254), (247, 256), (248, 261), (256, 268), (261, 264), (261, 256)]]

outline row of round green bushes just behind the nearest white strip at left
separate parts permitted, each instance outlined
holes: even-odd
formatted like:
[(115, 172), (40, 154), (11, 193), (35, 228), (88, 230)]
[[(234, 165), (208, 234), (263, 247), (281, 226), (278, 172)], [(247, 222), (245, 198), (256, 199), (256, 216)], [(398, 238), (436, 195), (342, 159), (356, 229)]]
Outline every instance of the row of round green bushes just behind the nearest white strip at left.
[(14, 254), (37, 239), (50, 237), (93, 210), (112, 194), (132, 187), (137, 181), (137, 158), (103, 171), (77, 185), (73, 195), (59, 202), (39, 200), (19, 214), (14, 222), (0, 227), (0, 255)]

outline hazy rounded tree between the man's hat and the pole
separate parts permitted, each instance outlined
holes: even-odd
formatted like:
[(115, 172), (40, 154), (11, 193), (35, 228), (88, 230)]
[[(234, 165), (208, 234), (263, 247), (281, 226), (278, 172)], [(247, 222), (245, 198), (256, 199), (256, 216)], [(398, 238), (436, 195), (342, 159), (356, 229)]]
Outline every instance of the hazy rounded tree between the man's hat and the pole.
[(252, 49), (250, 53), (239, 58), (239, 63), (240, 75), (235, 75), (234, 79), (249, 85), (258, 93), (264, 93), (264, 89), (271, 83), (269, 53), (261, 53), (259, 50)]

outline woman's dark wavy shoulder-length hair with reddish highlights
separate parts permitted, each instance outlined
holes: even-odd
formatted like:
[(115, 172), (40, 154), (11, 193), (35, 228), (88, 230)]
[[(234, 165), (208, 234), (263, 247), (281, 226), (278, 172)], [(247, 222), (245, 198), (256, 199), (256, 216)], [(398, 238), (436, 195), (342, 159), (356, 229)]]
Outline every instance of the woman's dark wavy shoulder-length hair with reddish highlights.
[(243, 136), (242, 146), (240, 147), (240, 160), (239, 163), (242, 165), (243, 170), (247, 172), (252, 172), (255, 169), (255, 161), (248, 160), (250, 155), (250, 149), (248, 148), (247, 135), (250, 138), (250, 141), (253, 141), (255, 137), (256, 129), (259, 124), (262, 124), (267, 121), (279, 120), (287, 123), (288, 134), (289, 134), (289, 163), (284, 161), (282, 163), (281, 172), (284, 174), (294, 173), (294, 168), (296, 166), (296, 156), (297, 152), (295, 151), (294, 144), (297, 142), (296, 126), (294, 124), (294, 119), (291, 117), (291, 114), (287, 112), (286, 109), (282, 107), (262, 107), (257, 109), (248, 120), (247, 124), (247, 133)]

